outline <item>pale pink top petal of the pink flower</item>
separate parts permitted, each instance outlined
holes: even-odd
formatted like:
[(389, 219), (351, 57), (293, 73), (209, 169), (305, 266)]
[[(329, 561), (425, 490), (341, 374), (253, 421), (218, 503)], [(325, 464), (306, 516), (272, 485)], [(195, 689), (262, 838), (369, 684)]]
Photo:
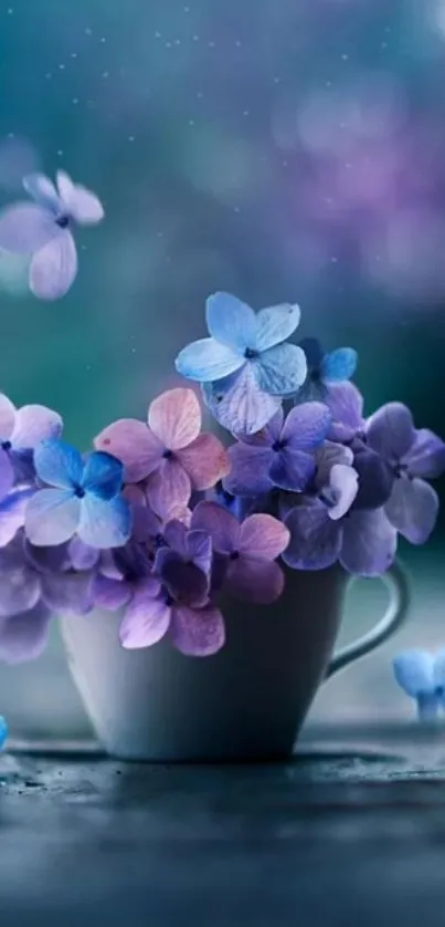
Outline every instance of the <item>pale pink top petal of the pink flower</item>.
[(148, 425), (169, 450), (187, 448), (201, 428), (201, 407), (193, 389), (169, 389), (153, 399)]

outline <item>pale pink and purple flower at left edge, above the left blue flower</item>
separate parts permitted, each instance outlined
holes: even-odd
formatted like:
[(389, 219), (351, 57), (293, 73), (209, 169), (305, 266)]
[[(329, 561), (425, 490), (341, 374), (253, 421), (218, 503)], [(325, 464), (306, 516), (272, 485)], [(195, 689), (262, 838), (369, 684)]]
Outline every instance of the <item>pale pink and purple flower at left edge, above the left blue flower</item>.
[(47, 438), (60, 438), (62, 429), (63, 420), (56, 412), (39, 405), (17, 409), (8, 396), (0, 394), (0, 489), (9, 470), (15, 482), (32, 480), (34, 448)]

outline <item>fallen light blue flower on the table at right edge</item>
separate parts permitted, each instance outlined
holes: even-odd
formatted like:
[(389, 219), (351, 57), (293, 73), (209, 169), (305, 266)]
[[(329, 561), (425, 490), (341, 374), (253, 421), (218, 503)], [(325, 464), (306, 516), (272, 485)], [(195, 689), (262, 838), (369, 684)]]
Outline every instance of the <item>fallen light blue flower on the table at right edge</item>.
[(400, 687), (416, 702), (420, 721), (432, 721), (445, 707), (445, 650), (404, 650), (393, 660)]

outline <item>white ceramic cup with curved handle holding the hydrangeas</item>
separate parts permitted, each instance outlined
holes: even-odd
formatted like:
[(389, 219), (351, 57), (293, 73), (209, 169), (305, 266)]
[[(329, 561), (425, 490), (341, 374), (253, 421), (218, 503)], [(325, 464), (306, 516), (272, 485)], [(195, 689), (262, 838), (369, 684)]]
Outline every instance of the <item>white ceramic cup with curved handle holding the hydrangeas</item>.
[(117, 613), (63, 617), (71, 671), (106, 751), (151, 762), (290, 756), (321, 680), (383, 643), (407, 613), (406, 576), (394, 564), (382, 576), (385, 615), (331, 659), (349, 579), (338, 566), (286, 570), (274, 605), (222, 603), (226, 644), (204, 658), (168, 639), (125, 650)]

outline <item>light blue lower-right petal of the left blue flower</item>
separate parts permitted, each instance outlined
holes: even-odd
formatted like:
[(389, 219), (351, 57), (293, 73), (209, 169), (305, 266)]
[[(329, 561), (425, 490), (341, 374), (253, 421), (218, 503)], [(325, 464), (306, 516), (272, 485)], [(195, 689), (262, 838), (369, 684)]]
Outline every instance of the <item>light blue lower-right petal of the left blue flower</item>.
[(87, 494), (81, 503), (78, 537), (91, 548), (120, 548), (131, 534), (131, 510), (126, 499)]

